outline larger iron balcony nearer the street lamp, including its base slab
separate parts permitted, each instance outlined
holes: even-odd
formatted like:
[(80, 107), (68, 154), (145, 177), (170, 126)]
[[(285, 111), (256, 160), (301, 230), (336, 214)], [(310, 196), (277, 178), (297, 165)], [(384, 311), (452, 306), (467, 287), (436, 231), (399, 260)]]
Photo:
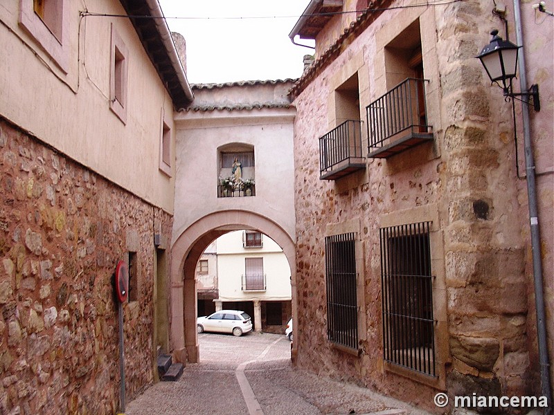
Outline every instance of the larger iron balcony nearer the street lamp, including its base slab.
[(408, 78), (366, 107), (368, 157), (387, 158), (433, 140), (427, 123), (425, 82)]

